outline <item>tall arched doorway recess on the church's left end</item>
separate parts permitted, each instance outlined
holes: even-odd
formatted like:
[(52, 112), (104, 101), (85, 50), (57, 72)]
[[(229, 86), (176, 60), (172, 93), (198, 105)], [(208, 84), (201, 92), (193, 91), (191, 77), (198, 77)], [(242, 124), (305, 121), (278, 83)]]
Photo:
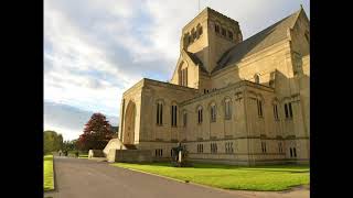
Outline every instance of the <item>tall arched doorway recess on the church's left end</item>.
[(135, 119), (136, 119), (136, 105), (132, 101), (129, 101), (126, 108), (125, 114), (125, 129), (122, 133), (122, 143), (124, 144), (133, 144), (135, 141)]

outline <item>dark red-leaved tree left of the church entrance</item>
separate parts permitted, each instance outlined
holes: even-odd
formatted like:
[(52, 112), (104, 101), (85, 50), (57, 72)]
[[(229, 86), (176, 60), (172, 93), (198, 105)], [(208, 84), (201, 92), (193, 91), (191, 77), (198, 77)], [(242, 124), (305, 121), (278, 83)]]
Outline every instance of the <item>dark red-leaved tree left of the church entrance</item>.
[(85, 124), (77, 145), (82, 151), (103, 150), (113, 138), (111, 125), (101, 113), (94, 113)]

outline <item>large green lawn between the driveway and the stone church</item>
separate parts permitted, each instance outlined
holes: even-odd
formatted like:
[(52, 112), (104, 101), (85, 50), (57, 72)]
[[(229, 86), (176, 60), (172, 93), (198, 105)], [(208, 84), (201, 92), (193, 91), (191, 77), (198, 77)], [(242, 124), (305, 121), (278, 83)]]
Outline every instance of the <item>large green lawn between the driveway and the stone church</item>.
[(194, 167), (172, 167), (169, 163), (128, 164), (114, 166), (143, 170), (180, 180), (224, 189), (285, 190), (293, 186), (309, 185), (309, 166), (276, 165), (242, 167), (231, 165), (194, 164)]

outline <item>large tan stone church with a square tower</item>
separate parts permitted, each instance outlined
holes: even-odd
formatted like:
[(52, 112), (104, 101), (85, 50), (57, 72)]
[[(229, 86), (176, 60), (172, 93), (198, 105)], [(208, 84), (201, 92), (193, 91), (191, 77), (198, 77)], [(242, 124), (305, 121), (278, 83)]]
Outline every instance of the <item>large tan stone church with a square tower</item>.
[(309, 163), (309, 76), (302, 8), (247, 40), (237, 21), (206, 8), (182, 29), (169, 82), (143, 78), (124, 92), (119, 138), (104, 153), (165, 161), (181, 142), (193, 162)]

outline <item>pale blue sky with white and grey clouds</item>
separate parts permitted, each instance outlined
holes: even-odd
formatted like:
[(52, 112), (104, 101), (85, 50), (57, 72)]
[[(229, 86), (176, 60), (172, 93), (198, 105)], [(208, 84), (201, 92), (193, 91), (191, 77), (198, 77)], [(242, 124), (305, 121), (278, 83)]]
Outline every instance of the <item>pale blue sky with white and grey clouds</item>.
[[(256, 34), (309, 0), (200, 0)], [(119, 125), (122, 92), (141, 78), (167, 81), (179, 58), (182, 28), (197, 0), (45, 0), (44, 130), (77, 139), (94, 112)]]

